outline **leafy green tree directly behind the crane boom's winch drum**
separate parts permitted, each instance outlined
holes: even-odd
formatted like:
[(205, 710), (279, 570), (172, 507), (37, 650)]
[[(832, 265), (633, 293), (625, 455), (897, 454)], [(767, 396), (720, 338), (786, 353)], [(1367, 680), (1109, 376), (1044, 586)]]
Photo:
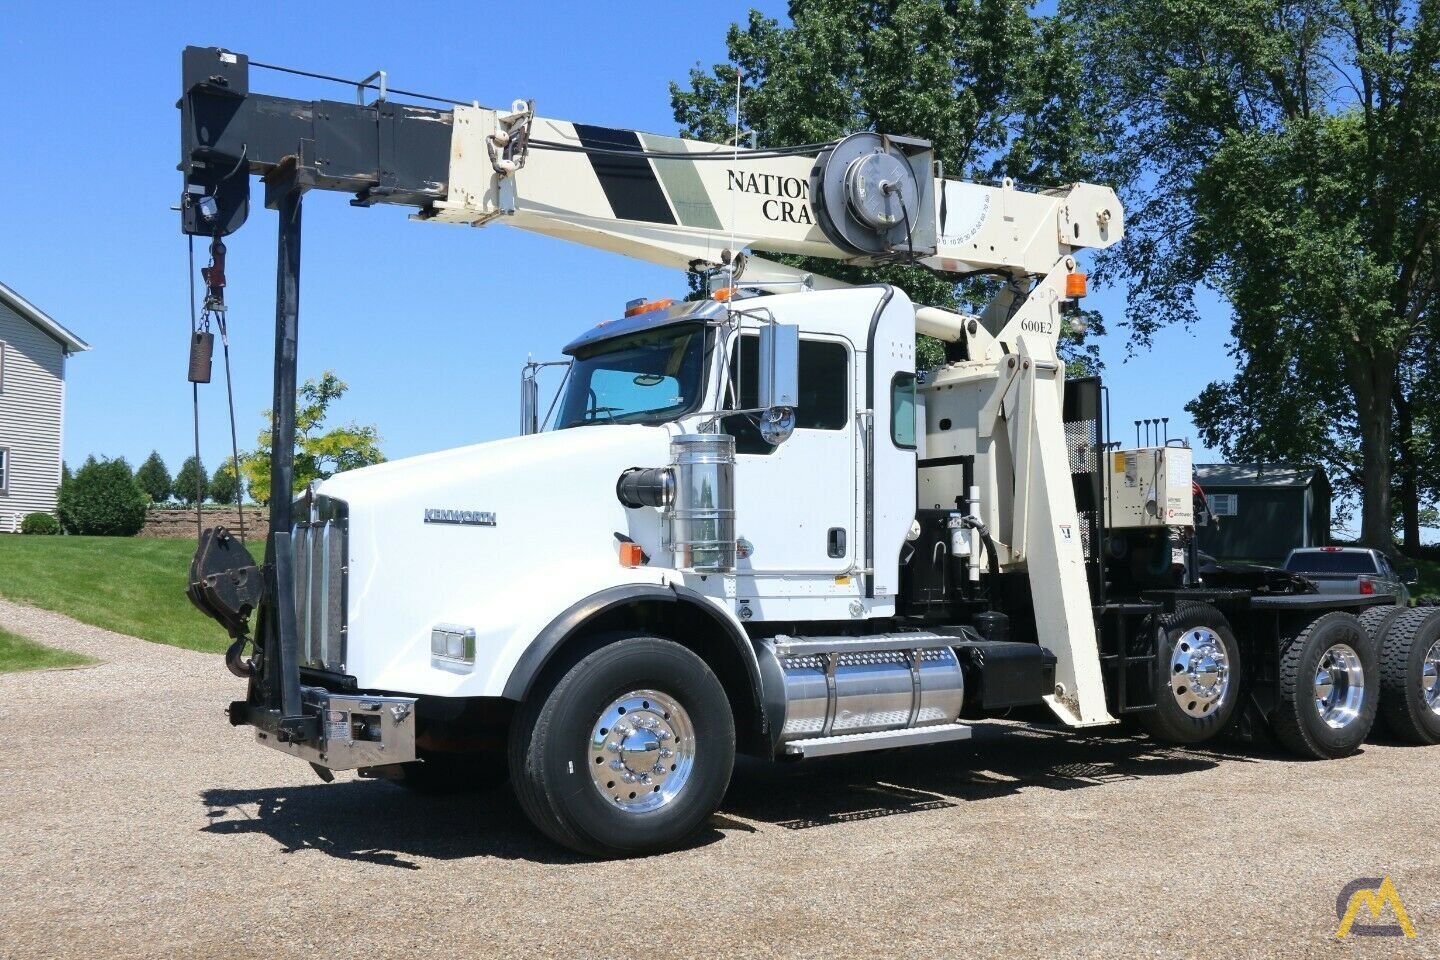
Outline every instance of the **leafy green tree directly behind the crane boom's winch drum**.
[[(1096, 173), (1109, 130), (1079, 82), (1071, 22), (1032, 16), (1021, 0), (795, 0), (789, 16), (782, 26), (752, 10), (727, 33), (730, 63), (693, 69), (687, 88), (671, 83), (684, 135), (734, 137), (739, 66), (746, 142), (760, 147), (876, 130), (930, 140), (949, 176), (1056, 184)], [(973, 309), (994, 291), (994, 281), (956, 284), (916, 266), (775, 259), (845, 282), (896, 284), (948, 309)], [(1103, 332), (1099, 315), (1087, 320)], [(1067, 360), (1094, 368), (1081, 338), (1067, 331)], [(940, 344), (922, 337), (917, 364), (940, 361)]]

